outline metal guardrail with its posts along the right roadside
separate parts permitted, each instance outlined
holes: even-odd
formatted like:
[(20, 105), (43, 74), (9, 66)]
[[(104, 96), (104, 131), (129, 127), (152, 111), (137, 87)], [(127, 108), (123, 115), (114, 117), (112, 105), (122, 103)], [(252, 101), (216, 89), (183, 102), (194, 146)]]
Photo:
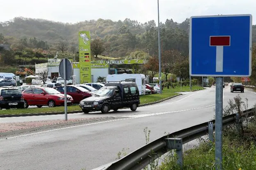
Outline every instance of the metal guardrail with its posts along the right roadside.
[[(240, 118), (249, 118), (251, 116), (254, 116), (254, 108), (243, 111), (240, 116), (238, 113), (224, 116), (222, 119), (222, 127), (232, 125), (238, 122)], [(182, 145), (207, 134), (209, 134), (209, 140), (213, 141), (214, 130), (215, 120), (182, 129), (180, 131), (162, 136), (161, 138), (144, 145), (127, 156), (112, 163), (95, 168), (94, 170), (141, 170), (146, 165), (151, 163), (155, 158), (165, 154), (169, 150), (174, 149), (176, 150), (176, 154), (178, 156), (177, 163), (179, 163), (182, 167)], [(157, 154), (152, 154), (152, 152)]]

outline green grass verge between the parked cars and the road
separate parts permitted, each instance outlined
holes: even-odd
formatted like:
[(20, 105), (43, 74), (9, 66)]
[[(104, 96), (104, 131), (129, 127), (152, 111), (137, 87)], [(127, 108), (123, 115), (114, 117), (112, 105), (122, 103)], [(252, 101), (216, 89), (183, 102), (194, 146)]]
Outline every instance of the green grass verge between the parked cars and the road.
[[(199, 86), (192, 86), (192, 90), (203, 89)], [(162, 94), (152, 94), (152, 95), (142, 95), (140, 96), (140, 104), (146, 104), (151, 102), (156, 102), (167, 97), (177, 95), (175, 92), (181, 91), (180, 87), (176, 88), (164, 88)], [(190, 91), (189, 86), (183, 86), (182, 91)], [(78, 105), (68, 106), (68, 111), (77, 111), (81, 110)], [(9, 110), (0, 110), (0, 115), (11, 115), (11, 114), (24, 114), (24, 113), (47, 113), (47, 112), (59, 112), (64, 111), (64, 106), (60, 107), (42, 107), (42, 108), (29, 108), (29, 109), (9, 109)]]

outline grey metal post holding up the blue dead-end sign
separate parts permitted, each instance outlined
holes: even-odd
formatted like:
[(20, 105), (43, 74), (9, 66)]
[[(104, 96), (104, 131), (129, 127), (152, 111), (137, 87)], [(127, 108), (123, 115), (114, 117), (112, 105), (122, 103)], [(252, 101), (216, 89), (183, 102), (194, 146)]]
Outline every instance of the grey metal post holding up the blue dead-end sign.
[(215, 99), (215, 169), (222, 170), (223, 77), (216, 77)]

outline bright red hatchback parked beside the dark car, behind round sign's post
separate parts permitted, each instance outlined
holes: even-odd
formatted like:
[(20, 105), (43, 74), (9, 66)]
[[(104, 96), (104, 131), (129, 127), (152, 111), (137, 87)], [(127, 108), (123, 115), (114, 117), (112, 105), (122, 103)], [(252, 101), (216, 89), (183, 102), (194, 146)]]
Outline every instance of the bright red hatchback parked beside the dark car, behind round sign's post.
[[(24, 107), (27, 108), (29, 105), (37, 105), (42, 107), (48, 105), (48, 107), (55, 107), (64, 105), (64, 95), (59, 93), (57, 90), (48, 87), (30, 87), (22, 92), (24, 97)], [(73, 98), (67, 95), (67, 104), (72, 104)]]

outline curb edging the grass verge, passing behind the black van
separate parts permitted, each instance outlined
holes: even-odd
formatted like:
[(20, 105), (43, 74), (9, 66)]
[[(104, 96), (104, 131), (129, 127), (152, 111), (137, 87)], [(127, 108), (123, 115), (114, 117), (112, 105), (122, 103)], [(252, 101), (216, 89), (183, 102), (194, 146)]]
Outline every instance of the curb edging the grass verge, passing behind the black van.
[[(201, 89), (204, 90), (204, 89)], [(194, 90), (194, 91), (199, 91), (199, 90)], [(149, 106), (152, 104), (158, 104), (160, 102), (164, 102), (166, 100), (172, 99), (174, 97), (177, 97), (179, 95), (182, 94), (178, 94), (178, 95), (174, 95), (162, 100), (158, 100), (156, 102), (151, 102), (151, 103), (146, 103), (146, 104), (140, 104), (139, 107), (143, 107), (143, 106)], [(72, 114), (72, 113), (81, 113), (82, 110), (77, 110), (77, 111), (68, 111), (68, 114)], [(59, 115), (59, 114), (65, 114), (64, 111), (59, 111), (59, 112), (49, 112), (49, 113), (24, 113), (24, 114), (16, 114), (16, 115), (0, 115), (0, 118), (11, 118), (11, 117), (22, 117), (22, 116), (43, 116), (43, 115)]]

